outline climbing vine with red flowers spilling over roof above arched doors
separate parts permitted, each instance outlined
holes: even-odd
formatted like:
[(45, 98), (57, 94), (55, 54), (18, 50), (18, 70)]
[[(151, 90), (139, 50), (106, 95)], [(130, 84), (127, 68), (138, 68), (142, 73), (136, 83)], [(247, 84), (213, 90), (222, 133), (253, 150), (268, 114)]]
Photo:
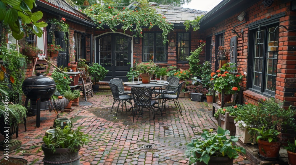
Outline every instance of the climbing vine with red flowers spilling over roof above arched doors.
[(94, 4), (83, 12), (94, 20), (98, 28), (103, 28), (106, 24), (115, 32), (116, 27), (120, 25), (124, 32), (129, 29), (135, 37), (143, 37), (143, 28), (151, 29), (157, 26), (163, 31), (164, 44), (168, 41), (168, 33), (173, 29), (173, 25), (162, 14), (158, 14), (147, 0), (139, 1), (133, 10), (127, 7), (116, 7), (115, 4)]

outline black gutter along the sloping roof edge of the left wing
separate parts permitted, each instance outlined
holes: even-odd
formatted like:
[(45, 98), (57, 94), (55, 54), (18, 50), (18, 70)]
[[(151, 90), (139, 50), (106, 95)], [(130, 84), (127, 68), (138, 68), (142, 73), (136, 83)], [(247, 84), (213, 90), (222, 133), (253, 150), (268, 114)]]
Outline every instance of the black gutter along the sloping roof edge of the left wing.
[(35, 3), (37, 5), (36, 9), (40, 9), (40, 10), (45, 11), (47, 13), (53, 14), (55, 16), (59, 16), (59, 15), (62, 14), (70, 22), (75, 22), (76, 24), (80, 24), (80, 25), (88, 26), (88, 27), (92, 27), (92, 28), (98, 27), (98, 25), (96, 25), (96, 24), (94, 24), (92, 22), (89, 22), (89, 21), (87, 21), (85, 19), (82, 19), (80, 17), (77, 17), (77, 16), (75, 16), (73, 14), (70, 14), (68, 12), (65, 12), (65, 11), (59, 9), (58, 6), (54, 7), (54, 6), (48, 5), (48, 4), (46, 4), (44, 2), (41, 2), (41, 1), (36, 1)]

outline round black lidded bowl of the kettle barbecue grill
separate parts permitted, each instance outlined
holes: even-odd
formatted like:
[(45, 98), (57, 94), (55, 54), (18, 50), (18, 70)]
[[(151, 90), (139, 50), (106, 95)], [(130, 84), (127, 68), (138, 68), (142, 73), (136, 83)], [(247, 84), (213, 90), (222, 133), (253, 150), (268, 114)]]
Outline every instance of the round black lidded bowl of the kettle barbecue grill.
[(22, 83), (22, 92), (31, 101), (37, 100), (40, 96), (41, 101), (48, 101), (54, 94), (56, 84), (52, 77), (43, 76), (37, 73), (37, 76), (31, 76), (24, 80)]

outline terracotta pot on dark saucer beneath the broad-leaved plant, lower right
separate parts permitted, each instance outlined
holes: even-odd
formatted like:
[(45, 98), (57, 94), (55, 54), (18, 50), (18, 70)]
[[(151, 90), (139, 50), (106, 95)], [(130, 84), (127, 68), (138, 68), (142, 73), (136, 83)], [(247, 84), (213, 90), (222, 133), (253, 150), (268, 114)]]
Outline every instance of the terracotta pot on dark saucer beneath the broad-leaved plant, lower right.
[(279, 156), (279, 149), (281, 148), (281, 142), (271, 142), (258, 140), (259, 153), (266, 158), (276, 158)]

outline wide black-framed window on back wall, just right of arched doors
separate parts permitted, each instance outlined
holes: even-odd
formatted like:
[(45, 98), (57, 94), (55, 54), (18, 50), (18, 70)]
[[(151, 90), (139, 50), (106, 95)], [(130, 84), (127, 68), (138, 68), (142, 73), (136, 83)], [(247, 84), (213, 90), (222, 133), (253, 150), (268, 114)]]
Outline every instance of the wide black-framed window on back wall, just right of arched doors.
[(143, 61), (167, 62), (167, 45), (163, 44), (161, 32), (143, 34)]

